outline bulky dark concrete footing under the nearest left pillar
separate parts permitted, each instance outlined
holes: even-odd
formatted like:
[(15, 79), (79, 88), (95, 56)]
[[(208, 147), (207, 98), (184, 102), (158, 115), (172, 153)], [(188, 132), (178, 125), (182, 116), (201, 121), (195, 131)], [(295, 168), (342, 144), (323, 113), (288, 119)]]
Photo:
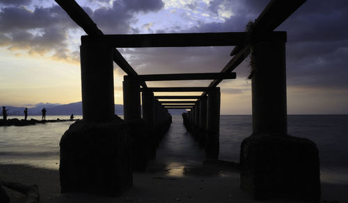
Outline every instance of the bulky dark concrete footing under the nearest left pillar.
[(133, 184), (132, 137), (125, 122), (77, 121), (62, 138), (61, 193), (118, 196)]

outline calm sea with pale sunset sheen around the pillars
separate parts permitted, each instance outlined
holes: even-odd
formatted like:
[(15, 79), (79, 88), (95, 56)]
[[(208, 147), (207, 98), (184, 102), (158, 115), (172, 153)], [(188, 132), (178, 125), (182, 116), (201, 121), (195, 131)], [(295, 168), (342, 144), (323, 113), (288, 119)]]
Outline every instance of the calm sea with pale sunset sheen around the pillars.
[[(56, 118), (70, 116), (46, 116)], [(73, 122), (0, 127), (0, 164), (58, 169), (59, 141)], [(322, 182), (348, 184), (348, 115), (289, 115), (287, 122), (288, 134), (317, 144)], [(219, 159), (239, 162), (240, 144), (251, 132), (251, 115), (221, 115)], [(181, 115), (173, 115), (173, 123), (157, 148), (156, 160), (177, 168), (205, 160), (205, 150), (184, 128)]]

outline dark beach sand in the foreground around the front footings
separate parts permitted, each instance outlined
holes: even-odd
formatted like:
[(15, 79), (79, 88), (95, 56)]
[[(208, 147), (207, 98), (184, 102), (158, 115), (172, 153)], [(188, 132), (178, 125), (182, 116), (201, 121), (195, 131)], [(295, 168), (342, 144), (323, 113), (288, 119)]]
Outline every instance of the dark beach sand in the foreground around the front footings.
[[(232, 170), (205, 166), (164, 170), (161, 166), (147, 173), (134, 173), (134, 186), (124, 195), (111, 198), (86, 194), (60, 195), (58, 170), (26, 165), (0, 164), (0, 179), (37, 184), (40, 202), (256, 202), (239, 189), (239, 174)], [(24, 202), (25, 196), (6, 189), (11, 202)], [(296, 202), (284, 200), (264, 202)], [(322, 184), (322, 201), (348, 202), (348, 185)], [(260, 202), (259, 202), (260, 203)]]

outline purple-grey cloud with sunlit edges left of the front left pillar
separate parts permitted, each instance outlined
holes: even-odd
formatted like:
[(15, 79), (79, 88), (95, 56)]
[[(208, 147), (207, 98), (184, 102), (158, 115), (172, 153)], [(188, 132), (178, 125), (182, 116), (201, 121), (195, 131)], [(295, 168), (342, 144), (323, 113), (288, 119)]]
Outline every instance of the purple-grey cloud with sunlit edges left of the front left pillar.
[(2, 8), (0, 21), (0, 46), (29, 54), (52, 53), (57, 60), (77, 61), (67, 48), (67, 31), (77, 26), (59, 6), (37, 7), (33, 11), (22, 6)]

